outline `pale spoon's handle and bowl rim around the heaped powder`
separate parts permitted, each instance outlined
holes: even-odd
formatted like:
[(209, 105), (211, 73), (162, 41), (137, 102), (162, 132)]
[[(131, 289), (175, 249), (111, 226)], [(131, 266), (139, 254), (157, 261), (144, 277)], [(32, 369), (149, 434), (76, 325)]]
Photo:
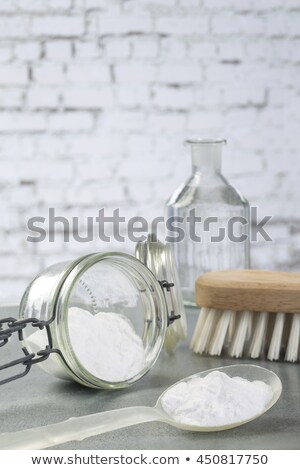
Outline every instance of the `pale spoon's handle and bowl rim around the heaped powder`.
[[(212, 371), (222, 371), (230, 377), (242, 377), (244, 379), (253, 381), (261, 380), (272, 388), (273, 396), (267, 406), (255, 416), (252, 416), (244, 421), (230, 423), (224, 426), (195, 426), (182, 424), (175, 421), (168, 415), (162, 405), (161, 400), (164, 394), (180, 382), (189, 381), (195, 377), (205, 377)], [(134, 424), (146, 423), (150, 421), (161, 421), (170, 426), (175, 426), (180, 429), (198, 432), (212, 432), (222, 431), (225, 429), (241, 426), (253, 419), (258, 418), (269, 410), (278, 400), (282, 391), (282, 384), (279, 377), (268, 369), (263, 367), (244, 364), (233, 365), (226, 367), (218, 367), (210, 369), (198, 374), (191, 375), (165, 390), (154, 408), (147, 406), (134, 406), (131, 408), (121, 408), (119, 410), (105, 411), (103, 413), (95, 413), (92, 415), (73, 417), (61, 423), (50, 424), (38, 428), (26, 429), (24, 431), (7, 432), (0, 434), (0, 449), (45, 449), (55, 445), (63, 444), (69, 441), (82, 441), (87, 437), (96, 436), (116, 429), (125, 428)]]

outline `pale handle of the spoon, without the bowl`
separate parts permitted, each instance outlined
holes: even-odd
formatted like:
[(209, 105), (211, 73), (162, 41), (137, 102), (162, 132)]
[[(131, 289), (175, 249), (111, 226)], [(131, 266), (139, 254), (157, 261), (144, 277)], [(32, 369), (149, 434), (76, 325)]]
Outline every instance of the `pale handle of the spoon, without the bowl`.
[(65, 442), (82, 441), (87, 437), (159, 419), (155, 408), (147, 406), (134, 406), (73, 417), (60, 423), (0, 434), (0, 449), (46, 449)]

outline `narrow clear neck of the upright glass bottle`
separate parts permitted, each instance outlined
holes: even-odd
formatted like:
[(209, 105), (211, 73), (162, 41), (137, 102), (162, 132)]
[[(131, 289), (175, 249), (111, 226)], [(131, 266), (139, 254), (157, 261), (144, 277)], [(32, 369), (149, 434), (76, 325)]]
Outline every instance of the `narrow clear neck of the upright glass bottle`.
[(193, 173), (220, 173), (224, 141), (189, 141)]

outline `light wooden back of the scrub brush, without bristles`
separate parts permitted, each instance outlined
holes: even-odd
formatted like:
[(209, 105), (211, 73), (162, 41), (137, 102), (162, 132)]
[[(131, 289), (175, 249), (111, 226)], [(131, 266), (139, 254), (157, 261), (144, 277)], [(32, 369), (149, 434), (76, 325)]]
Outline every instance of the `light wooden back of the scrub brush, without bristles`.
[(300, 313), (300, 274), (228, 270), (196, 281), (196, 302), (220, 310)]

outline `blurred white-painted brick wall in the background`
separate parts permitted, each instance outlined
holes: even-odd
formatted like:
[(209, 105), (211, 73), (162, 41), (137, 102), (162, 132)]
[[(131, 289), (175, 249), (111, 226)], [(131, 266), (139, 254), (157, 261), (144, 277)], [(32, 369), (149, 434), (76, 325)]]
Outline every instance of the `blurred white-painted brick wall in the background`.
[(0, 301), (108, 248), (30, 244), (30, 216), (161, 215), (190, 135), (227, 137), (224, 172), (273, 215), (254, 266), (299, 270), (299, 51), (298, 0), (1, 0)]

